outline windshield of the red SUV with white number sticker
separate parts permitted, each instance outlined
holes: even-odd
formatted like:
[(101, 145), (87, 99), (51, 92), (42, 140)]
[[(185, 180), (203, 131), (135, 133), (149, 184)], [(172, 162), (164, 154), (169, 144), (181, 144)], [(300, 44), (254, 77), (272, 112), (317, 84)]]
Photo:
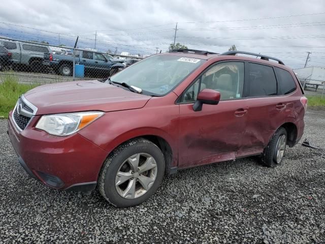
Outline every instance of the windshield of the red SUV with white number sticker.
[(111, 77), (113, 82), (139, 87), (144, 93), (162, 96), (169, 93), (205, 60), (172, 55), (153, 55)]

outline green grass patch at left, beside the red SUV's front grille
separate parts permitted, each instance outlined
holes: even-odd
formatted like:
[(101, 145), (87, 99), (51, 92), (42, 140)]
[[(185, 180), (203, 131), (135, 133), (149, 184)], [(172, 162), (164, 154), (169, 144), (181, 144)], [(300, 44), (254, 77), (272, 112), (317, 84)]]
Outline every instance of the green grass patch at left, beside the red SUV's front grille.
[(14, 72), (4, 72), (0, 75), (0, 118), (8, 117), (18, 98), (39, 84), (20, 84)]

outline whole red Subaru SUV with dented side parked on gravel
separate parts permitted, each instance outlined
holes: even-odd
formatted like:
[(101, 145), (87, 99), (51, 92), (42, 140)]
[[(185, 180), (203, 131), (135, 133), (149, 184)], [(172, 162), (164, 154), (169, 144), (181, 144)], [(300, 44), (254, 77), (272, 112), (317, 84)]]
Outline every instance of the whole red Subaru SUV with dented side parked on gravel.
[(277, 58), (180, 49), (102, 82), (36, 87), (10, 112), (8, 133), (32, 177), (60, 190), (98, 186), (129, 207), (180, 169), (252, 155), (280, 165), (303, 135), (306, 108), (297, 77)]

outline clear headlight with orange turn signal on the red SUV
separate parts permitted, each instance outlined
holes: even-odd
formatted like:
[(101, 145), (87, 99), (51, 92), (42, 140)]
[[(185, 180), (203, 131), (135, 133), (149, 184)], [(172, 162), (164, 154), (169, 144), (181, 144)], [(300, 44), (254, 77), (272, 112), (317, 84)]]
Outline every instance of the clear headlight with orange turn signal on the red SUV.
[(43, 115), (36, 128), (51, 135), (68, 136), (89, 125), (103, 114), (104, 112), (93, 111)]

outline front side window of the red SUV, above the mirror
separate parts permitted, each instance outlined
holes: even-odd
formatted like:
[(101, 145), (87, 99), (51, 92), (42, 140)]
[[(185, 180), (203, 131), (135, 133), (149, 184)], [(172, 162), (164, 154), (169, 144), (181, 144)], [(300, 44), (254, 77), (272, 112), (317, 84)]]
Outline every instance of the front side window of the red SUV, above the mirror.
[(226, 62), (212, 66), (183, 95), (182, 102), (194, 102), (199, 88), (217, 90), (220, 100), (241, 99), (244, 86), (244, 63)]

